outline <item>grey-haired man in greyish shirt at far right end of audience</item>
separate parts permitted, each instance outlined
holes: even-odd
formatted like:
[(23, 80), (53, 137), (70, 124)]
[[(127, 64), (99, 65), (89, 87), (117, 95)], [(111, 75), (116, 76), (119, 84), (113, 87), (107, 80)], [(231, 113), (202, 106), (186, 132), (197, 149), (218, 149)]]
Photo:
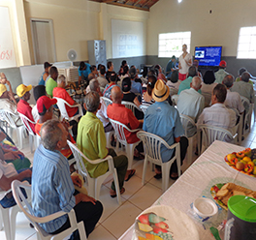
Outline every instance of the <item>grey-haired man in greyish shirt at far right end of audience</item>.
[(231, 92), (237, 92), (240, 96), (246, 98), (250, 104), (254, 104), (254, 90), (249, 83), (250, 74), (248, 72), (242, 73), (240, 81), (236, 81), (231, 88)]

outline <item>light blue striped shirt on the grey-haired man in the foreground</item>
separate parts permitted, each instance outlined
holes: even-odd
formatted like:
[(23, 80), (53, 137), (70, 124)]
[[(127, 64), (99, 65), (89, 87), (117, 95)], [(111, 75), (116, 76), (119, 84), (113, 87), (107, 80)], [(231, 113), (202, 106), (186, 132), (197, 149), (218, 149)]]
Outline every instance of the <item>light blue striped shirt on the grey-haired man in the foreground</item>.
[[(50, 151), (42, 144), (34, 155), (32, 172), (32, 209), (37, 217), (58, 211), (70, 212), (76, 205), (74, 185), (68, 160), (59, 151)], [(48, 233), (66, 223), (67, 215), (47, 224), (40, 224)]]

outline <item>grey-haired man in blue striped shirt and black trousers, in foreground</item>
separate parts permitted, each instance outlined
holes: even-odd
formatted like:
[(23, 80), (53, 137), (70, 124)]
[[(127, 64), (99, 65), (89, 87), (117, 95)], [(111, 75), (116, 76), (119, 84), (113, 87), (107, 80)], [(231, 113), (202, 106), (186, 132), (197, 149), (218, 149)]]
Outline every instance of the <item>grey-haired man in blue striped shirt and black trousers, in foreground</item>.
[[(75, 210), (77, 221), (83, 222), (87, 236), (98, 223), (103, 206), (93, 197), (75, 192), (81, 186), (78, 176), (70, 176), (67, 159), (61, 149), (67, 147), (68, 133), (58, 120), (48, 120), (41, 129), (42, 144), (34, 155), (32, 174), (32, 209), (37, 217)], [(56, 234), (70, 227), (67, 215), (40, 224), (48, 233)], [(71, 239), (80, 239), (78, 230)]]

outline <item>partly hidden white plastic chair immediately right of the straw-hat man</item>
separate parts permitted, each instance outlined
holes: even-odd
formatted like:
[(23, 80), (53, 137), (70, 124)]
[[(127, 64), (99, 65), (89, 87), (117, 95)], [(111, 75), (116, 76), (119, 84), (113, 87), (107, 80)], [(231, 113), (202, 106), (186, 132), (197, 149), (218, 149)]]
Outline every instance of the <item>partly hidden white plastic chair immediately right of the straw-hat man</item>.
[[(185, 131), (185, 136), (188, 138), (187, 160), (190, 165), (190, 164), (192, 164), (194, 140), (197, 138), (197, 126), (191, 117), (181, 114), (181, 113), (179, 115), (180, 115), (181, 124)], [(189, 135), (188, 130), (191, 127), (195, 128), (196, 134), (192, 135), (192, 136), (188, 136)]]

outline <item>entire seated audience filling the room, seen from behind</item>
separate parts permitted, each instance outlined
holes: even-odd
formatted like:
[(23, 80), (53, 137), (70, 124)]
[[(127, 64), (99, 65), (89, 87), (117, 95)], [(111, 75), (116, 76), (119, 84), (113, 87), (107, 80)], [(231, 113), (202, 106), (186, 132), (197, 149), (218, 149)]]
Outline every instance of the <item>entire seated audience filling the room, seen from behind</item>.
[[(180, 120), (180, 114), (190, 117), (197, 126), (207, 124), (234, 132), (242, 114), (248, 112), (248, 105), (254, 104), (254, 90), (250, 74), (240, 69), (235, 81), (233, 75), (225, 69), (227, 63), (221, 61), (216, 73), (207, 71), (204, 76), (198, 71), (198, 62), (189, 60), (187, 73), (178, 74), (176, 57), (173, 56), (163, 74), (160, 65), (147, 72), (144, 68), (142, 77), (135, 66), (129, 68), (124, 60), (118, 74), (113, 71), (112, 62), (98, 66), (80, 62), (79, 87), (85, 86), (83, 103), (77, 103), (67, 92), (64, 75), (58, 75), (56, 67), (48, 62), (44, 64), (45, 72), (39, 84), (33, 87), (36, 105), (29, 105), (32, 85), (20, 84), (16, 87), (15, 98), (12, 86), (4, 73), (0, 74), (0, 109), (13, 112), (16, 126), (22, 125), (18, 113), (29, 119), (29, 126), (36, 135), (41, 136), (41, 144), (34, 154), (33, 169), (30, 162), (17, 150), (12, 139), (0, 130), (0, 188), (7, 191), (14, 179), (27, 180), (32, 185), (32, 207), (36, 216), (44, 217), (57, 211), (75, 210), (77, 221), (83, 221), (86, 234), (89, 235), (98, 223), (103, 206), (101, 202), (89, 195), (75, 191), (81, 182), (69, 161), (74, 159), (67, 139), (76, 143), (80, 151), (91, 161), (112, 156), (116, 168), (120, 194), (125, 192), (124, 182), (136, 173), (128, 169), (128, 158), (117, 156), (112, 148), (107, 147), (106, 133), (113, 132), (111, 121), (118, 121), (131, 131), (144, 132), (162, 137), (170, 146), (176, 142), (180, 145), (180, 165), (186, 156), (188, 138), (197, 133), (195, 125), (188, 125), (187, 135)], [(179, 66), (179, 65), (178, 65)], [(9, 91), (7, 86), (9, 87)], [(177, 95), (176, 106), (171, 97)], [(112, 101), (108, 105), (105, 98)], [(68, 121), (58, 114), (58, 100), (62, 99), (69, 119), (78, 115), (76, 120)], [(242, 102), (242, 100), (244, 101)], [(136, 106), (135, 114), (123, 102)], [(247, 104), (247, 105), (246, 105)], [(108, 106), (107, 106), (108, 105)], [(146, 110), (140, 110), (140, 107)], [(80, 116), (80, 108), (82, 114)], [(72, 131), (70, 131), (72, 129)], [(137, 131), (137, 132), (138, 132)], [(137, 132), (124, 131), (128, 144), (140, 142)], [(11, 140), (11, 141), (10, 141)], [(225, 140), (231, 141), (226, 138)], [(112, 135), (112, 146), (118, 147), (118, 141)], [(173, 149), (161, 147), (162, 161), (168, 162), (175, 155)], [(134, 150), (134, 159), (144, 159), (144, 145), (140, 142)], [(28, 163), (29, 162), (29, 163)], [(83, 159), (89, 175), (97, 178), (109, 169), (108, 162), (92, 165)], [(20, 164), (21, 163), (21, 164)], [(155, 165), (156, 179), (162, 178), (161, 166)], [(176, 161), (170, 170), (170, 177), (177, 179)], [(112, 182), (110, 195), (116, 196)], [(44, 197), (43, 197), (44, 196)], [(2, 197), (2, 198), (1, 198)], [(3, 207), (15, 205), (14, 197), (1, 195)], [(54, 223), (42, 227), (52, 234), (69, 227), (67, 216), (62, 216)], [(80, 239), (74, 232), (72, 239)]]

